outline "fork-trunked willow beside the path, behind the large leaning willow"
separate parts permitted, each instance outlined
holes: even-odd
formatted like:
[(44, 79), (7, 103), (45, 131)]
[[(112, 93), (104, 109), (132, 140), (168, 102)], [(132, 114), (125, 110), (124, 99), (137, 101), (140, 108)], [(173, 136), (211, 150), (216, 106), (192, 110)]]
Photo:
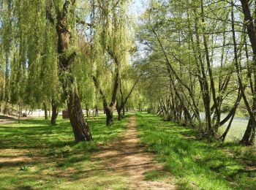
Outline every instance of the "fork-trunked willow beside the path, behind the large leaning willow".
[[(108, 81), (112, 87), (110, 98), (105, 94), (102, 83), (99, 81), (98, 75), (94, 75), (94, 84), (102, 97), (103, 107), (107, 116), (107, 126), (113, 124), (113, 111), (116, 107), (116, 99), (118, 95), (118, 86), (122, 67), (129, 62), (129, 49), (131, 42), (129, 40), (129, 20), (127, 19), (127, 6), (129, 1), (124, 0), (98, 0), (94, 2), (94, 30), (95, 50), (98, 49), (98, 56), (105, 59), (96, 61), (96, 73), (102, 64), (107, 65), (108, 71), (113, 75), (112, 81)], [(105, 71), (103, 71), (105, 72)], [(110, 99), (110, 102), (108, 101)], [(109, 103), (108, 103), (109, 102)]]

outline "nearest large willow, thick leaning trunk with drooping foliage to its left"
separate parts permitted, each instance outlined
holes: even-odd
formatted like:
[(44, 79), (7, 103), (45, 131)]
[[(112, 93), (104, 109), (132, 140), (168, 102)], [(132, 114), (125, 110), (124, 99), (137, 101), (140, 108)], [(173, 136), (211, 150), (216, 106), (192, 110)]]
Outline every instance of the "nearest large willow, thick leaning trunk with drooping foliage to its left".
[[(2, 35), (4, 43), (1, 47), (7, 55), (10, 42), (15, 42), (18, 50), (18, 54), (15, 55), (18, 55), (20, 65), (26, 69), (23, 76), (27, 76), (25, 95), (28, 99), (27, 103), (59, 99), (56, 96), (58, 90), (53, 91), (53, 88), (50, 88), (55, 85), (54, 88), (58, 89), (56, 80), (59, 80), (62, 86), (61, 94), (67, 100), (75, 141), (92, 140), (89, 125), (83, 117), (75, 76), (72, 74), (72, 66), (78, 55), (76, 44), (78, 2), (44, 0), (25, 3), (20, 0), (7, 0), (3, 4), (6, 7), (3, 15), (7, 17), (4, 18), (2, 27), (8, 28), (12, 23), (12, 28), (16, 28), (17, 32), (11, 37)], [(8, 14), (12, 15), (8, 16)], [(17, 40), (10, 40), (12, 38)], [(9, 69), (10, 66), (7, 68)], [(6, 80), (8, 78), (10, 77), (6, 77)]]

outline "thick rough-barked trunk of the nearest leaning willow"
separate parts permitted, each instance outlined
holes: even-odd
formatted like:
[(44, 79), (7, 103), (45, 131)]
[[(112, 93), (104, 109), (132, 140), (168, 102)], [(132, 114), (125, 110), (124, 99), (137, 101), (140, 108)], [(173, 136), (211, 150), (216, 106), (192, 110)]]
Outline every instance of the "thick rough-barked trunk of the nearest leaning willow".
[[(58, 11), (58, 10), (57, 10)], [(69, 31), (68, 18), (74, 14), (75, 0), (64, 1), (62, 11), (57, 12), (56, 31), (58, 34), (58, 53), (59, 53), (59, 79), (61, 81), (64, 95), (67, 97), (67, 107), (69, 119), (75, 135), (75, 142), (92, 140), (89, 124), (83, 116), (83, 110), (78, 97), (78, 87), (75, 85), (72, 76), (71, 65), (75, 59), (76, 52), (65, 55), (72, 43), (72, 34)]]

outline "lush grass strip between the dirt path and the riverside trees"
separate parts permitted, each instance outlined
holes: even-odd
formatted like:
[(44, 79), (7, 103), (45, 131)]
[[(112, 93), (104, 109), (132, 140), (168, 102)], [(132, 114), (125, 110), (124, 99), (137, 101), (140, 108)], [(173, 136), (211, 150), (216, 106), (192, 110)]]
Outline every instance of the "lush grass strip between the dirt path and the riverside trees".
[[(137, 124), (141, 143), (148, 146), (147, 151), (157, 153), (157, 160), (182, 189), (255, 189), (252, 151), (243, 153), (241, 146), (232, 143), (196, 140), (192, 129), (156, 115), (137, 114)], [(153, 172), (148, 178), (159, 175)]]

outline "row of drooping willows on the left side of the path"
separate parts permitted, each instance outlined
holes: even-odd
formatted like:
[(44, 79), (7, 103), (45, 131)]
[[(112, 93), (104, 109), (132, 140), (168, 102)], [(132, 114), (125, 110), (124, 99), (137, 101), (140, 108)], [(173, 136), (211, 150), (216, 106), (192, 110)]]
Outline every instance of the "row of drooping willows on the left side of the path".
[(129, 3), (1, 1), (1, 111), (18, 105), (47, 114), (51, 107), (55, 124), (59, 107), (67, 107), (76, 142), (92, 140), (82, 107), (98, 110), (103, 102), (107, 125), (114, 109), (121, 120), (138, 83)]

